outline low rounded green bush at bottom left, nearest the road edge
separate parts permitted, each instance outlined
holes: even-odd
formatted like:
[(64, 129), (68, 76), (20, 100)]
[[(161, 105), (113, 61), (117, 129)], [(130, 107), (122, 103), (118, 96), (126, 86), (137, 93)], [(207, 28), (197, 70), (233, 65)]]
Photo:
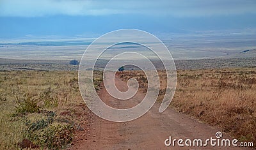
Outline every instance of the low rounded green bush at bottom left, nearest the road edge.
[(28, 128), (24, 138), (42, 149), (62, 149), (72, 141), (74, 128), (69, 123), (56, 122), (55, 112), (49, 111), (46, 114), (47, 118), (26, 122)]

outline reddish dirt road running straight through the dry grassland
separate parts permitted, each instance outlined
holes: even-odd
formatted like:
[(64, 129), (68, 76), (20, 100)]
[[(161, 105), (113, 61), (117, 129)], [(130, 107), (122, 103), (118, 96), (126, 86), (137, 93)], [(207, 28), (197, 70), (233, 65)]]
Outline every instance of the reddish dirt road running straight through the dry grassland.
[[(121, 91), (127, 89), (127, 84), (116, 79), (116, 87)], [(137, 93), (133, 101), (120, 101), (111, 97), (106, 89), (101, 89), (99, 96), (102, 100), (115, 108), (132, 107), (143, 99), (143, 93)], [(179, 114), (168, 108), (159, 113), (160, 103), (155, 103), (144, 116), (126, 123), (114, 123), (87, 113), (86, 130), (77, 133), (70, 149), (241, 149), (239, 147), (167, 147), (164, 140), (169, 139), (216, 139), (218, 129), (200, 123), (195, 119)], [(85, 110), (84, 110), (85, 111)], [(88, 111), (88, 110), (87, 110)], [(223, 133), (222, 139), (231, 139)], [(183, 142), (184, 144), (184, 142)], [(209, 145), (209, 142), (208, 142)]]

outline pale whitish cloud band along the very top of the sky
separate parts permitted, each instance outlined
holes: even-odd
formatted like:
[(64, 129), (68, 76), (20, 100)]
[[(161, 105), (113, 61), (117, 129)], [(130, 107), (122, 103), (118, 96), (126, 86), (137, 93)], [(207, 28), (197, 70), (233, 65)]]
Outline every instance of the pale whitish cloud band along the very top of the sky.
[(2, 17), (38, 17), (45, 15), (146, 14), (176, 17), (236, 15), (256, 13), (254, 0), (0, 0)]

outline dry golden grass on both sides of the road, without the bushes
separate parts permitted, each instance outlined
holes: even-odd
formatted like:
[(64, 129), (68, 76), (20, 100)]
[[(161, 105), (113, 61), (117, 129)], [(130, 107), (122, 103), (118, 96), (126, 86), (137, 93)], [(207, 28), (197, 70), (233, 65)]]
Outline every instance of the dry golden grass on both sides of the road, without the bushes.
[[(96, 75), (95, 82), (100, 84), (102, 77), (100, 73)], [(159, 71), (159, 75), (161, 100), (166, 76), (163, 71)], [(256, 142), (256, 68), (179, 70), (177, 75), (172, 107), (219, 126), (241, 141)], [(147, 91), (147, 79), (141, 71), (123, 71), (120, 76), (124, 80), (136, 77), (141, 91)], [(51, 95), (57, 96), (58, 105), (44, 107), (44, 110), (56, 113), (56, 122), (48, 130), (56, 128), (61, 121), (79, 128), (86, 116), (81, 114), (84, 101), (79, 93), (77, 71), (0, 71), (0, 149), (17, 149), (17, 143), (28, 137), (24, 130), (28, 127), (26, 121), (47, 118), (44, 111), (13, 116), (17, 98), (24, 100), (28, 95), (38, 98), (49, 87)]]

